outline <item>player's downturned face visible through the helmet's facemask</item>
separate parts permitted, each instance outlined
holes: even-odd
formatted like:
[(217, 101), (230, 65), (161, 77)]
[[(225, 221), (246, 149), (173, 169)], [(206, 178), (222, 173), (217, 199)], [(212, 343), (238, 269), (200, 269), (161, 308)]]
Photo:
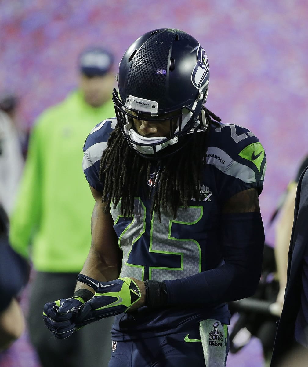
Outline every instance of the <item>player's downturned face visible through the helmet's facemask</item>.
[[(137, 116), (137, 113), (130, 112), (132, 115)], [(173, 113), (174, 115), (174, 113)], [(172, 117), (172, 114), (166, 114), (165, 116), (160, 116), (160, 118), (168, 118)], [(139, 135), (146, 138), (155, 138), (155, 137), (170, 137), (170, 132), (175, 131), (177, 128), (177, 119), (164, 120), (164, 121), (146, 121), (141, 119), (133, 119), (135, 130)], [(155, 120), (155, 118), (153, 119)]]

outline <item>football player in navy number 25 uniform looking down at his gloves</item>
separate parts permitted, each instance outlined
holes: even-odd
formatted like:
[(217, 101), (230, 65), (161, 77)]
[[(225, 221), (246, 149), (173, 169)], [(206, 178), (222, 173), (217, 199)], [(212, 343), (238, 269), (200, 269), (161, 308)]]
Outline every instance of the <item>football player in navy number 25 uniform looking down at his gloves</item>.
[(139, 37), (117, 81), (116, 117), (84, 146), (90, 252), (75, 294), (45, 305), (45, 324), (66, 338), (116, 315), (109, 367), (225, 366), (227, 302), (260, 279), (264, 149), (205, 107), (208, 58), (181, 30)]

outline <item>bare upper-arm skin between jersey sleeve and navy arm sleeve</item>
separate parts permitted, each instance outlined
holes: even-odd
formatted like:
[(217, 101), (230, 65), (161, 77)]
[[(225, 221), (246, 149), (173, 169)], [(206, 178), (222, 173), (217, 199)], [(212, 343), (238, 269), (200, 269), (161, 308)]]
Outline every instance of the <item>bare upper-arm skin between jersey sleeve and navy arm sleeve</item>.
[(260, 212), (257, 190), (248, 189), (233, 195), (224, 203), (222, 212), (225, 214)]

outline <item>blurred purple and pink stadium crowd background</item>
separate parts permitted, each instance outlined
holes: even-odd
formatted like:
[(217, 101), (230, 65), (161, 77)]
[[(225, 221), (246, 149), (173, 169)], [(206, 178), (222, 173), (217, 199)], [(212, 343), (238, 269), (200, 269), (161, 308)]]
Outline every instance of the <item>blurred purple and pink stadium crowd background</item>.
[[(260, 205), (272, 245), (268, 220), (308, 151), (307, 18), (307, 0), (2, 0), (0, 93), (21, 98), (21, 123), (30, 127), (75, 87), (76, 59), (85, 46), (110, 48), (118, 63), (149, 30), (185, 30), (209, 58), (207, 107), (224, 123), (248, 127), (266, 150)], [(258, 341), (249, 348), (231, 355), (227, 366), (262, 366)], [(26, 333), (0, 357), (0, 367), (11, 366), (39, 366)]]

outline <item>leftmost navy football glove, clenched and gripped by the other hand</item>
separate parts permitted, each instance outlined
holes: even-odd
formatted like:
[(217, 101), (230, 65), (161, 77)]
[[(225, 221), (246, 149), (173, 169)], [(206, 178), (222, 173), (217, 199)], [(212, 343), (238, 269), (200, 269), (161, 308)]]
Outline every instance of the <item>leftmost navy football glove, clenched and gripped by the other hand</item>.
[(43, 319), (45, 326), (57, 339), (70, 337), (75, 330), (75, 316), (79, 307), (84, 304), (80, 297), (63, 298), (45, 304)]

